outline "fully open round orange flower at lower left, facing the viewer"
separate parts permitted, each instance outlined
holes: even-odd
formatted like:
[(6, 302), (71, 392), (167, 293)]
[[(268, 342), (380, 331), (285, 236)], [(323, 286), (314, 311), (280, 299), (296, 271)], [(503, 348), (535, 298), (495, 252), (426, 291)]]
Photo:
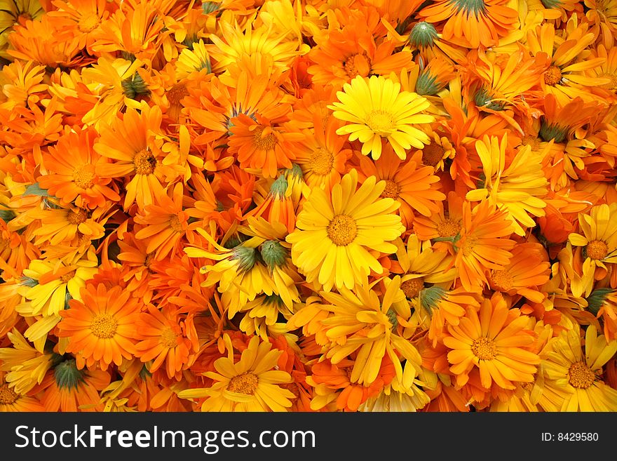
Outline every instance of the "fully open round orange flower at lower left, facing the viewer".
[(128, 291), (103, 283), (81, 288), (82, 301), (70, 300), (61, 312), (58, 337), (69, 338), (67, 352), (79, 353), (88, 367), (107, 370), (135, 354), (134, 325), (140, 304)]

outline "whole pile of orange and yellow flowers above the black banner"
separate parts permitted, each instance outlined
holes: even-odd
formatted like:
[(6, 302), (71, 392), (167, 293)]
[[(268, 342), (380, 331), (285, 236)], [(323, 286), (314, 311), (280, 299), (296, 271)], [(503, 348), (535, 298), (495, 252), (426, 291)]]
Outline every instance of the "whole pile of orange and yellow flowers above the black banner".
[(616, 411), (616, 39), (0, 0), (0, 410)]

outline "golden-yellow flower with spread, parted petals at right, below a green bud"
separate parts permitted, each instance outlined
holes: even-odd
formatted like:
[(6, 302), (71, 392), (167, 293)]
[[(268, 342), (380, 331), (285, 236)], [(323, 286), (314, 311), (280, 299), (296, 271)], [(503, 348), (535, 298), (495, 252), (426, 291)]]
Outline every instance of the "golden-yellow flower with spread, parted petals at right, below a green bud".
[(470, 201), (488, 199), (489, 203), (507, 212), (514, 232), (524, 235), (525, 229), (534, 227), (532, 216), (543, 216), (546, 202), (541, 197), (547, 194), (548, 181), (541, 166), (541, 159), (531, 152), (531, 147), (522, 147), (506, 168), (507, 135), (499, 142), (496, 137), (484, 136), (475, 143), (482, 161), (484, 187), (468, 192)]

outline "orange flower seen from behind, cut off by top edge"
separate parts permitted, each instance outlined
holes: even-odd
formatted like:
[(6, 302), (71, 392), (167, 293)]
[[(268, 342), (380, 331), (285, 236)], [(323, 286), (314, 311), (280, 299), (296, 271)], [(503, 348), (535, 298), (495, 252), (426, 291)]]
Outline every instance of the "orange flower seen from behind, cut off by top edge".
[(445, 20), (445, 40), (466, 48), (494, 46), (514, 28), (516, 10), (508, 0), (438, 0), (422, 8), (418, 15), (426, 22)]

